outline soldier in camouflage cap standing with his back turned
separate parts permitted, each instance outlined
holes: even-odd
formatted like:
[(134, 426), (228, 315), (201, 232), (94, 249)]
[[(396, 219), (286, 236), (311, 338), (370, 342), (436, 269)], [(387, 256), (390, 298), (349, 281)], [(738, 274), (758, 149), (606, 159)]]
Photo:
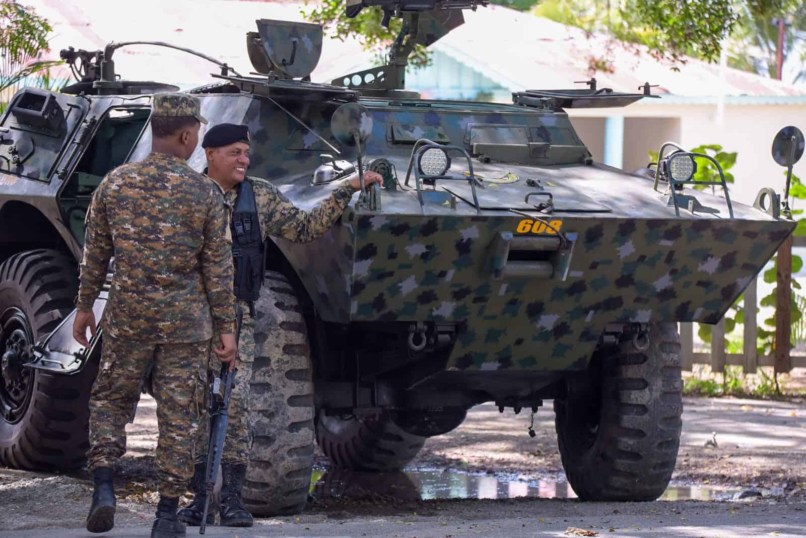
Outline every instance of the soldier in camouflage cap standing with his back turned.
[(89, 400), (87, 456), (95, 490), (87, 530), (114, 527), (112, 467), (126, 451), (124, 425), (152, 363), (160, 429), (152, 538), (172, 538), (185, 536), (177, 502), (192, 474), (214, 333), (218, 358), (235, 358), (235, 300), (221, 189), (185, 162), (197, 146), (200, 122), (206, 123), (199, 101), (159, 94), (153, 109), (152, 153), (109, 172), (93, 195), (73, 336), (88, 346), (86, 329), (95, 334), (92, 307), (114, 255), (101, 320), (102, 360)]

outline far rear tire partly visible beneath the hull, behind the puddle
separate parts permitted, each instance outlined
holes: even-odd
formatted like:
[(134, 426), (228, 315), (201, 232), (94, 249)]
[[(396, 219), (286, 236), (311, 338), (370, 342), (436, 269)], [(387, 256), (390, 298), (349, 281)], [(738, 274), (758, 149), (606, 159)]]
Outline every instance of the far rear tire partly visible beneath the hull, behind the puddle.
[(378, 416), (316, 417), (316, 441), (334, 466), (388, 472), (401, 470), (422, 449), (425, 437), (404, 432), (386, 412)]

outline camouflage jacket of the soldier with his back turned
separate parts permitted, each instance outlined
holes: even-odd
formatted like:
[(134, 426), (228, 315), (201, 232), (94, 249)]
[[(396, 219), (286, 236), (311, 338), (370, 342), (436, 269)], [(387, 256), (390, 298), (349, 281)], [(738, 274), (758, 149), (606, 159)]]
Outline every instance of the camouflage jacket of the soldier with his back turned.
[(152, 153), (98, 185), (86, 218), (77, 308), (91, 308), (109, 259), (102, 327), (113, 337), (206, 340), (235, 329), (231, 243), (218, 185), (184, 160)]

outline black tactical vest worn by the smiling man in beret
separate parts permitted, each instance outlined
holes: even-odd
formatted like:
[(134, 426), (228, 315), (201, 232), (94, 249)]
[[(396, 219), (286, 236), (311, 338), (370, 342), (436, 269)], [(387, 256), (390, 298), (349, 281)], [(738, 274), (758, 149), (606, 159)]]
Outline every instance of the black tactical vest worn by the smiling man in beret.
[(249, 303), (255, 313), (255, 301), (260, 296), (266, 264), (266, 249), (260, 234), (255, 190), (247, 178), (238, 187), (238, 197), (230, 219), (232, 259), (235, 264), (235, 298)]

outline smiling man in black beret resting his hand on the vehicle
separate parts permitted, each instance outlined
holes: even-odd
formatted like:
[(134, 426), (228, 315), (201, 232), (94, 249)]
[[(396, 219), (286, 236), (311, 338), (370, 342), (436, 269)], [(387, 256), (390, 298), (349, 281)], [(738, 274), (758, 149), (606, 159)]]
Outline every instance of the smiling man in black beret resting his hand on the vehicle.
[[(260, 224), (260, 241), (264, 242), (269, 235), (276, 235), (293, 242), (310, 242), (330, 229), (330, 226), (341, 217), (353, 194), (359, 190), (357, 174), (343, 180), (329, 198), (321, 205), (305, 213), (294, 207), (280, 194), (276, 187), (256, 177), (247, 177), (249, 166), (249, 128), (247, 126), (222, 123), (210, 128), (202, 141), (207, 157), (207, 174), (224, 191), (224, 201), (232, 216), (237, 209), (242, 184), (251, 184), (254, 192), (256, 212)], [(375, 172), (366, 172), (364, 181), (370, 185), (381, 181)], [(237, 233), (235, 226), (230, 226), (230, 234)], [(238, 267), (236, 258), (235, 266)], [(262, 265), (260, 267), (262, 271)], [(235, 279), (238, 279), (236, 269)], [(231, 527), (249, 527), (252, 517), (243, 507), (241, 487), (246, 476), (251, 445), (251, 428), (249, 424), (249, 381), (252, 374), (252, 362), (255, 360), (255, 323), (253, 304), (239, 300), (239, 308), (243, 308), (243, 323), (239, 338), (239, 358), (237, 361), (238, 377), (230, 399), (230, 420), (226, 430), (226, 440), (222, 452), (223, 485), (221, 490), (221, 524)], [(204, 472), (207, 460), (206, 451), (209, 445), (209, 431), (206, 424), (199, 428), (194, 461), (196, 467), (191, 480), (195, 495), (193, 504), (179, 512), (179, 518), (189, 525), (198, 525), (202, 521), (202, 510), (206, 500), (204, 492)], [(208, 523), (213, 520), (208, 516)]]

